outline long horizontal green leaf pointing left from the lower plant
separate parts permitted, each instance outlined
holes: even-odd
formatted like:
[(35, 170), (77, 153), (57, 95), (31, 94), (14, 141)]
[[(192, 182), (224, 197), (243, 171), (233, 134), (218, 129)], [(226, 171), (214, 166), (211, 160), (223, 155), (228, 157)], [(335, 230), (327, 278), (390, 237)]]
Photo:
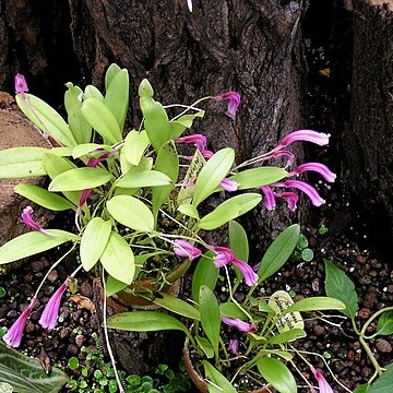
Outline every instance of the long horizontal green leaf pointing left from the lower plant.
[(107, 320), (108, 327), (131, 332), (155, 332), (162, 330), (179, 330), (190, 336), (183, 323), (172, 315), (157, 311), (132, 311), (111, 315)]

